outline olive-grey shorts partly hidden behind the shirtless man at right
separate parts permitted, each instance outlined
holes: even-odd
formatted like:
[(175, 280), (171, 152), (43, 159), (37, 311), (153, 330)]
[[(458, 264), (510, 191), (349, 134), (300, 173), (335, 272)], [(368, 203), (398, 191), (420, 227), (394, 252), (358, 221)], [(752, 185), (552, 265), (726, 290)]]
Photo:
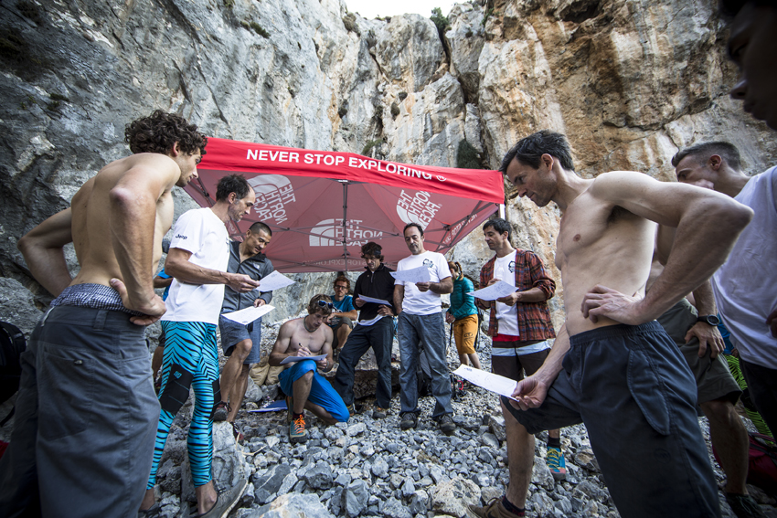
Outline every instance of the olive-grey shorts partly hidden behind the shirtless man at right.
[(718, 354), (715, 359), (712, 359), (708, 347), (704, 356), (699, 358), (697, 338), (692, 338), (686, 344), (686, 333), (697, 322), (697, 312), (691, 303), (687, 299), (682, 299), (657, 320), (686, 358), (688, 367), (696, 379), (698, 402), (707, 403), (714, 399), (725, 398), (736, 405), (742, 391), (734, 376), (731, 375), (729, 364), (723, 359), (723, 354)]

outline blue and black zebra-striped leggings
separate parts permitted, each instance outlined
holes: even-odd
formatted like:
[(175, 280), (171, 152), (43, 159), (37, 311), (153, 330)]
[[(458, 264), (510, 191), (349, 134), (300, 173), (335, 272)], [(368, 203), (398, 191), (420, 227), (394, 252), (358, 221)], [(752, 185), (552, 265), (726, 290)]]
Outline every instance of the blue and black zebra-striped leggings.
[(186, 446), (192, 480), (196, 487), (211, 480), (213, 460), (213, 419), (215, 401), (221, 400), (218, 384), (216, 325), (205, 322), (162, 322), (165, 331), (165, 355), (162, 363), (162, 389), (159, 392), (159, 426), (156, 428), (154, 463), (147, 489), (154, 489), (156, 470), (165, 449), (173, 419), (195, 391), (195, 408)]

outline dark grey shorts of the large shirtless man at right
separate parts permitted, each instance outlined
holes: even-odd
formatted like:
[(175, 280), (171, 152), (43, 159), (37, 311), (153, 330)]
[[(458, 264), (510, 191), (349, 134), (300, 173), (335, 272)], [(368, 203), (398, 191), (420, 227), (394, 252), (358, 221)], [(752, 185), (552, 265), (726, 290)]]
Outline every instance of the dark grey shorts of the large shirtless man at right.
[(584, 422), (623, 518), (719, 516), (696, 382), (661, 325), (612, 325), (569, 341), (540, 407), (502, 398), (516, 420), (529, 433)]

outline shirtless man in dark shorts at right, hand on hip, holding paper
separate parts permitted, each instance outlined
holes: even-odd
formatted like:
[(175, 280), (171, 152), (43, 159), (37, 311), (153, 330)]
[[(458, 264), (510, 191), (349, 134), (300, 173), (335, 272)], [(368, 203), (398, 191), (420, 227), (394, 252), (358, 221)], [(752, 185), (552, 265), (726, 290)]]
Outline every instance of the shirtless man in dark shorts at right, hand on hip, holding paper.
[[(534, 459), (529, 434), (585, 422), (623, 517), (719, 516), (696, 382), (676, 344), (652, 321), (708, 279), (752, 211), (727, 196), (645, 174), (580, 178), (569, 143), (555, 132), (518, 142), (501, 170), (519, 196), (537, 206), (553, 201), (563, 212), (556, 264), (567, 319), (542, 367), (518, 383), (516, 400), (505, 401), (521, 425), (516, 443), (527, 448), (524, 487)], [(677, 239), (644, 295), (654, 222), (676, 227)], [(511, 511), (522, 512), (524, 502), (510, 502)]]

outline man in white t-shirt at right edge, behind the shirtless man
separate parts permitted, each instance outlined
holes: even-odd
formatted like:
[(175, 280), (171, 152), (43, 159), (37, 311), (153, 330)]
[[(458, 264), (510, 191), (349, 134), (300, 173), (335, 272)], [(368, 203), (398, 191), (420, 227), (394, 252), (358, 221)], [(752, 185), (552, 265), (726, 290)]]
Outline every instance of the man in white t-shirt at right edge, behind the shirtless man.
[(672, 158), (677, 181), (733, 197), (755, 213), (710, 279), (718, 313), (740, 357), (750, 398), (777, 429), (777, 167), (748, 176), (725, 142), (699, 143)]

